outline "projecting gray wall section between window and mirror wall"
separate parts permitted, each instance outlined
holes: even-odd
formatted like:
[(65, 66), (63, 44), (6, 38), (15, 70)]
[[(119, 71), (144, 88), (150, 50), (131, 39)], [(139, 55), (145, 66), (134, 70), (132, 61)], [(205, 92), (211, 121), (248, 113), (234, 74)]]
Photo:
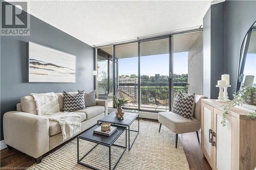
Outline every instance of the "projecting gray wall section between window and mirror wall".
[(224, 4), (211, 5), (203, 18), (203, 94), (217, 99), (224, 74)]

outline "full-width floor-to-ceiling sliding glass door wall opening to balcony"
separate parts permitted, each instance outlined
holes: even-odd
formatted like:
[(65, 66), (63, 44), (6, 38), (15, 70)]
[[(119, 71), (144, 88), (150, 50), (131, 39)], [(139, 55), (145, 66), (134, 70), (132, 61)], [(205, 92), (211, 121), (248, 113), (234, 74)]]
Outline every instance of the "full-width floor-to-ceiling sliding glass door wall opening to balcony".
[[(168, 111), (177, 92), (202, 93), (201, 31), (97, 48), (98, 96), (125, 109)], [(114, 77), (113, 77), (114, 75)]]

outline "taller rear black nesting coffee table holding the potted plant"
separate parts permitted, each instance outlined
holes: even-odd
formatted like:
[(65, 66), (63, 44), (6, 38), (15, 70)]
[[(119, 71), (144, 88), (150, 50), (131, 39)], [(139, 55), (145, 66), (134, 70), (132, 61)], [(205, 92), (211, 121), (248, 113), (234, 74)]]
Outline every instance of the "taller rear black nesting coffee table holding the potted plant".
[[(133, 124), (133, 122), (136, 118), (138, 118), (138, 130), (131, 130), (130, 126)], [(129, 151), (131, 150), (133, 143), (135, 142), (135, 140), (139, 134), (139, 131), (140, 131), (140, 115), (138, 113), (125, 112), (123, 119), (119, 119), (116, 117), (115, 111), (113, 111), (110, 114), (108, 114), (105, 117), (98, 120), (98, 124), (100, 122), (106, 122), (106, 123), (110, 123), (113, 125), (128, 127), (128, 149), (129, 149)], [(130, 131), (137, 132), (131, 145), (130, 145)]]

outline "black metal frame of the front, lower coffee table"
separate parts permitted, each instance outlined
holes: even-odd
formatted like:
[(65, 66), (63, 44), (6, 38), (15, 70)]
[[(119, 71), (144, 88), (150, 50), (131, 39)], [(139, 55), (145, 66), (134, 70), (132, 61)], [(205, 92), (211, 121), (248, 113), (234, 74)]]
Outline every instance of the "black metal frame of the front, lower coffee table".
[[(118, 145), (118, 144), (114, 144), (114, 142), (119, 138), (119, 136), (123, 133), (123, 131), (125, 130), (125, 147), (123, 147), (122, 145)], [(109, 147), (109, 169), (110, 170), (113, 170), (116, 168), (119, 160), (121, 159), (121, 157), (123, 156), (126, 148), (127, 148), (127, 131), (126, 131), (126, 127), (125, 129), (122, 130), (122, 132), (115, 138), (115, 140), (111, 143), (111, 144), (105, 144), (105, 143), (101, 143), (101, 142), (98, 142), (98, 141), (95, 141), (95, 140), (90, 140), (90, 139), (86, 139), (86, 138), (83, 138), (83, 137), (77, 137), (77, 163), (81, 164), (81, 165), (84, 165), (84, 166), (87, 166), (87, 167), (90, 167), (92, 169), (95, 169), (95, 170), (100, 170), (99, 168), (97, 167), (94, 167), (92, 165), (89, 165), (89, 164), (86, 164), (86, 163), (83, 163), (81, 162), (81, 160), (83, 158), (85, 158), (91, 151), (93, 151), (94, 148), (97, 147), (98, 144), (101, 144), (101, 145), (104, 145), (106, 147)], [(87, 141), (91, 141), (91, 142), (94, 142), (94, 143), (97, 143), (90, 151), (88, 151), (85, 155), (83, 155), (80, 159), (79, 159), (79, 139), (83, 139), (83, 140), (87, 140)], [(115, 165), (113, 166), (113, 168), (111, 168), (111, 147), (112, 145), (116, 146), (116, 147), (120, 147), (120, 148), (124, 148), (123, 152), (121, 153), (121, 155), (119, 156), (117, 162), (115, 163)]]

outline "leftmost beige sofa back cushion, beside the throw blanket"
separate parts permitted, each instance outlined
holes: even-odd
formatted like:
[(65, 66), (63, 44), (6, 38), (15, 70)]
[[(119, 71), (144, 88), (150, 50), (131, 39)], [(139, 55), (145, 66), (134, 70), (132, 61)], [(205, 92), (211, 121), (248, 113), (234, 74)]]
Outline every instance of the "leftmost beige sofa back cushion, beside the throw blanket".
[(37, 115), (35, 101), (31, 95), (24, 96), (20, 99), (20, 105), (22, 106), (23, 112)]

